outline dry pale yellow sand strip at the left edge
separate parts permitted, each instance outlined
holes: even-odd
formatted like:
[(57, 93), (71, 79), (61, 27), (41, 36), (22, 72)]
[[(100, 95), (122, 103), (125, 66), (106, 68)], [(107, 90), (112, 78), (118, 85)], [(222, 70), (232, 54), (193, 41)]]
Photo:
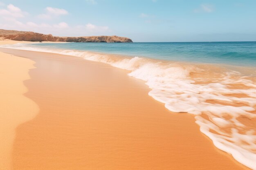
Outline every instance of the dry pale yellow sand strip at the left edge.
[(15, 129), (35, 117), (37, 104), (23, 94), (29, 69), (35, 62), (0, 52), (0, 169), (11, 169), (11, 152)]

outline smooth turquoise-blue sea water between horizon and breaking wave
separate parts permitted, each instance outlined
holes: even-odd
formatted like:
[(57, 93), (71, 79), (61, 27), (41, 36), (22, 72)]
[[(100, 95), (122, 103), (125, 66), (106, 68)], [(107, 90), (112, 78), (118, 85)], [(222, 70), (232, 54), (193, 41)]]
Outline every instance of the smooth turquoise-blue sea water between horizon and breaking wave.
[(133, 42), (29, 44), (185, 62), (256, 66), (256, 42)]

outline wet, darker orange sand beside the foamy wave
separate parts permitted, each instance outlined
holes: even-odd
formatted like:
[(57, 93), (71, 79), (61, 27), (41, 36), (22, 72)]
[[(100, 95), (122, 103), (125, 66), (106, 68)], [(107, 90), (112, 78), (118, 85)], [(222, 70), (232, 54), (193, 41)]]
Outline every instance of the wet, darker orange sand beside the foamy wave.
[(25, 96), (40, 108), (16, 128), (14, 170), (247, 169), (215, 148), (192, 115), (169, 112), (128, 71), (78, 57), (6, 52), (35, 62)]

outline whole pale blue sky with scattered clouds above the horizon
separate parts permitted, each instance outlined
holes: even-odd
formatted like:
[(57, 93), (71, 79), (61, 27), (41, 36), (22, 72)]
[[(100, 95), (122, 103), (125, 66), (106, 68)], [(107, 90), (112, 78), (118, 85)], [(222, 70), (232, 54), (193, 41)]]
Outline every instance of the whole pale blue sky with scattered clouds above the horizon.
[(256, 0), (0, 0), (0, 29), (134, 42), (256, 41)]

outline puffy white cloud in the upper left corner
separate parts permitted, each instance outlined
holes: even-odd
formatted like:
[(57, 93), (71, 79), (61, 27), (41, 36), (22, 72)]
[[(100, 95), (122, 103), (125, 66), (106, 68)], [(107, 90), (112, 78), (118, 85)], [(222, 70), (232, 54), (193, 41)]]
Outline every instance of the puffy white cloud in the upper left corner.
[(13, 4), (7, 5), (6, 9), (0, 9), (0, 17), (10, 17), (10, 18), (22, 18), (28, 13), (22, 11), (18, 7), (15, 7)]

